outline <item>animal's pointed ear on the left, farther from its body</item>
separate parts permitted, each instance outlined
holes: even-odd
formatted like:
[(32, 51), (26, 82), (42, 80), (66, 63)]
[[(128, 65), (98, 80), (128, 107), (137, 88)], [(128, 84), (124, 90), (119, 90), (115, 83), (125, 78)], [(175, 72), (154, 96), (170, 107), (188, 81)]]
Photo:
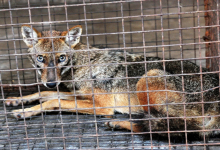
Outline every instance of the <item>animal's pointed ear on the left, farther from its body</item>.
[(21, 26), (21, 34), (23, 36), (23, 41), (28, 47), (33, 47), (33, 45), (37, 44), (39, 40), (38, 38), (41, 37), (41, 33), (38, 32), (35, 28), (31, 28), (29, 25)]

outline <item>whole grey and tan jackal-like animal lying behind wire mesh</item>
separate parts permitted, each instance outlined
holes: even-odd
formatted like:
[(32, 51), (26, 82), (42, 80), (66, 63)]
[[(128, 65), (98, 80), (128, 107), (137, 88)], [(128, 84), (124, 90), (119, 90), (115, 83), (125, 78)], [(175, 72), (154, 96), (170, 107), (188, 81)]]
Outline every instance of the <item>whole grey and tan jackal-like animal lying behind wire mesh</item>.
[(80, 25), (67, 31), (42, 32), (22, 25), (21, 34), (28, 58), (44, 86), (52, 89), (62, 83), (68, 91), (8, 97), (7, 106), (42, 101), (13, 110), (15, 118), (57, 109), (104, 117), (121, 113), (130, 118), (111, 119), (105, 125), (132, 132), (189, 131), (201, 137), (219, 134), (218, 74), (188, 60), (147, 57), (83, 44)]

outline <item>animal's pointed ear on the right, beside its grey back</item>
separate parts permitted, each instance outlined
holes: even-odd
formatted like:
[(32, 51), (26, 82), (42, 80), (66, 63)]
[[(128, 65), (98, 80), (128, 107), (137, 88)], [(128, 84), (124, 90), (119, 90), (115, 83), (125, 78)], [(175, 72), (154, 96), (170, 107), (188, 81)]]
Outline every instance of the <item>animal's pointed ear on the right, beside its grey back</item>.
[(67, 45), (70, 45), (71, 47), (75, 47), (76, 44), (79, 43), (81, 34), (82, 34), (82, 26), (77, 25), (70, 28), (69, 31), (64, 31), (62, 33), (62, 36), (65, 36), (64, 40)]

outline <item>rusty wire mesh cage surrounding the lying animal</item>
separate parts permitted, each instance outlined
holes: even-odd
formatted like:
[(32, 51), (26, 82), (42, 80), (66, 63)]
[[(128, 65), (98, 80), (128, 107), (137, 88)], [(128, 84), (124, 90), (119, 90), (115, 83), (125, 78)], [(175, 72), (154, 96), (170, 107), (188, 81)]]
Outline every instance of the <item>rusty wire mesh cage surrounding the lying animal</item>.
[[(143, 132), (106, 127), (105, 123), (112, 120), (135, 122), (131, 113), (103, 117), (105, 115), (63, 112), (58, 108), (16, 119), (12, 116), (13, 110), (42, 105), (43, 101), (28, 105), (21, 101), (16, 107), (6, 105), (8, 97), (23, 97), (36, 92), (40, 95), (42, 91), (49, 91), (40, 79), (39, 69), (28, 60), (28, 47), (21, 33), (24, 24), (38, 31), (51, 32), (68, 31), (81, 25), (80, 41), (87, 45), (87, 51), (103, 49), (122, 51), (125, 55), (129, 52), (159, 57), (163, 63), (170, 59), (187, 60), (197, 64), (200, 75), (206, 74), (202, 68), (217, 74), (218, 0), (1, 0), (0, 8), (0, 149), (219, 149), (219, 135), (207, 137), (204, 134), (197, 139), (197, 135), (190, 135), (194, 131), (186, 127), (181, 131), (172, 131), (168, 126), (166, 131)], [(91, 50), (88, 45), (97, 49)], [(105, 64), (98, 65), (105, 67)], [(116, 79), (113, 77), (112, 80)], [(212, 88), (218, 87), (217, 83)], [(59, 95), (65, 87), (61, 85), (53, 90)], [(124, 92), (129, 95), (129, 90)], [(76, 97), (76, 93), (73, 96)], [(217, 105), (219, 101), (212, 102)], [(198, 103), (204, 104), (203, 99)], [(185, 107), (186, 104), (182, 102), (182, 105)], [(129, 105), (126, 107), (130, 108)], [(169, 109), (166, 111), (168, 114)], [(196, 117), (202, 117), (205, 122), (203, 105), (202, 111), (201, 116)], [(186, 120), (187, 116), (184, 114), (183, 118)], [(165, 119), (170, 117), (167, 115)], [(218, 128), (210, 130), (219, 131)], [(205, 131), (207, 129), (203, 128), (197, 132)], [(176, 132), (182, 136), (172, 136)], [(161, 136), (161, 133), (166, 135)]]

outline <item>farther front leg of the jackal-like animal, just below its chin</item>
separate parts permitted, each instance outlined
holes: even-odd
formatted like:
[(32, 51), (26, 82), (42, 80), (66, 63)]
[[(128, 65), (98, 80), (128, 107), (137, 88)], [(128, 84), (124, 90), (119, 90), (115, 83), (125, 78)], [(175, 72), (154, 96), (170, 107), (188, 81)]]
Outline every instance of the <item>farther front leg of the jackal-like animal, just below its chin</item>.
[(58, 92), (57, 91), (43, 91), (43, 92), (37, 92), (34, 94), (26, 95), (21, 97), (8, 97), (5, 101), (7, 106), (18, 106), (22, 103), (31, 103), (38, 99), (41, 99), (42, 101), (48, 101), (52, 99), (58, 98), (60, 96), (60, 99), (72, 99), (73, 96), (71, 96), (71, 92)]

